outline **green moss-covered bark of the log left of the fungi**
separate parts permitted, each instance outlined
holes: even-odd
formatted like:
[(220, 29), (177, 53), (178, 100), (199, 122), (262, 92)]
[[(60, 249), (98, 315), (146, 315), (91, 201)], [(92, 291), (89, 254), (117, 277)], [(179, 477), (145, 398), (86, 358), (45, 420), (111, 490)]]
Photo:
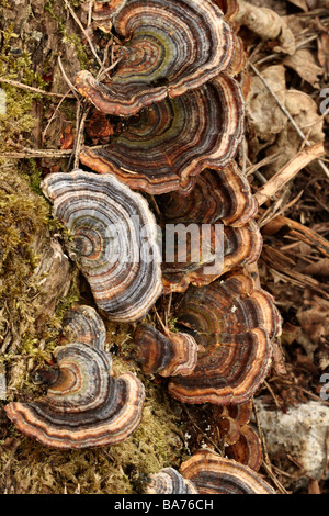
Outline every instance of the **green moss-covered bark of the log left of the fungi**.
[[(2, 0), (0, 30), (0, 79), (65, 93), (59, 54), (72, 81), (78, 69), (94, 65), (60, 0)], [(57, 98), (8, 82), (0, 82), (0, 155), (16, 146), (59, 148), (64, 128), (76, 124), (75, 100), (57, 110)], [(132, 358), (131, 326), (107, 324), (114, 370), (133, 370), (146, 385), (141, 425), (125, 442), (80, 451), (47, 449), (22, 436), (3, 411), (8, 401), (41, 395), (32, 372), (52, 361), (66, 310), (75, 302), (92, 303), (75, 263), (64, 255), (68, 236), (52, 218), (39, 188), (44, 173), (60, 168), (67, 171), (68, 161), (0, 156), (0, 374), (7, 378), (7, 400), (0, 401), (0, 493), (137, 493), (150, 473), (179, 465), (183, 440), (166, 390), (143, 377)]]

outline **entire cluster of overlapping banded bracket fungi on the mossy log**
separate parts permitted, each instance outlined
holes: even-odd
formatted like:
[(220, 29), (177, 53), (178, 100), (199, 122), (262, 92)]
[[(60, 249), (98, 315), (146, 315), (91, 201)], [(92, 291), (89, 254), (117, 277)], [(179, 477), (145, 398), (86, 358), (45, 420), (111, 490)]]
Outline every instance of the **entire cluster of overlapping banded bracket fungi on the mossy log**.
[[(272, 493), (254, 472), (261, 451), (248, 422), (281, 317), (248, 272), (262, 238), (257, 201), (235, 161), (246, 94), (237, 2), (112, 0), (92, 9), (115, 31), (117, 65), (111, 80), (83, 70), (76, 86), (111, 130), (103, 145), (82, 147), (80, 161), (92, 171), (50, 173), (43, 191), (100, 314), (138, 323), (143, 372), (168, 378), (179, 402), (218, 406), (230, 457), (243, 463), (203, 450), (180, 473), (155, 475), (148, 492)], [(167, 238), (169, 226), (178, 239)], [(172, 293), (181, 294), (179, 327), (159, 330), (144, 321)], [(82, 448), (120, 442), (137, 428), (144, 386), (132, 373), (114, 378), (105, 339), (90, 306), (67, 314), (57, 368), (39, 373), (47, 395), (5, 407), (21, 431), (50, 447)]]

